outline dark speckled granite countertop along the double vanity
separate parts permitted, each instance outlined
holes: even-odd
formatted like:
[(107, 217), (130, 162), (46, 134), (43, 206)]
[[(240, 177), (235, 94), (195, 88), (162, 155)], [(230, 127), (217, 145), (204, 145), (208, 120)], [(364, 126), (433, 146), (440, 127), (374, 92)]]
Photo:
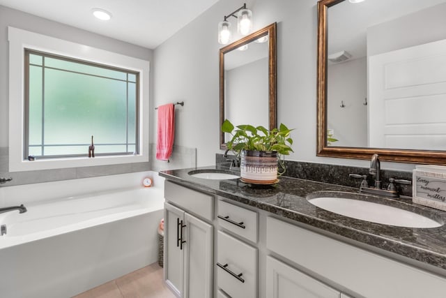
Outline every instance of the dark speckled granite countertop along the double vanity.
[[(212, 180), (192, 177), (192, 170), (216, 170), (216, 166), (197, 167), (181, 170), (166, 170), (160, 176), (178, 184), (221, 195), (272, 214), (277, 214), (293, 221), (312, 225), (348, 239), (359, 241), (376, 248), (381, 248), (397, 255), (433, 265), (438, 269), (446, 269), (446, 225), (439, 228), (401, 228), (361, 221), (325, 211), (310, 204), (307, 197), (335, 196), (334, 192), (346, 192), (349, 198), (379, 201), (382, 204), (399, 207), (446, 223), (446, 212), (418, 204), (413, 204), (410, 198), (387, 199), (373, 195), (357, 193), (357, 188), (338, 186), (317, 181), (280, 177), (275, 186), (252, 187), (240, 179)], [(235, 174), (237, 174), (235, 172)], [(332, 192), (332, 193), (330, 193)], [(319, 193), (322, 194), (322, 193)], [(442, 271), (443, 272), (443, 271)]]

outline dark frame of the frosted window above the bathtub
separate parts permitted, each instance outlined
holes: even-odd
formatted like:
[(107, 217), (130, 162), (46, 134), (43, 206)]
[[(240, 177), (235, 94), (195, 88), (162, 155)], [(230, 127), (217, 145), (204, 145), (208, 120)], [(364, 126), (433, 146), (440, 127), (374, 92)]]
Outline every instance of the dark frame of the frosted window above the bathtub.
[[(128, 69), (124, 69), (124, 68), (117, 68), (117, 67), (112, 67), (112, 66), (108, 66), (108, 65), (103, 65), (103, 64), (98, 64), (98, 63), (93, 63), (91, 61), (84, 61), (81, 59), (73, 59), (70, 57), (65, 57), (65, 56), (61, 56), (61, 55), (55, 55), (55, 54), (51, 54), (51, 53), (47, 53), (47, 52), (42, 52), (42, 51), (36, 51), (36, 50), (31, 50), (29, 48), (25, 48), (24, 49), (24, 94), (25, 94), (25, 98), (24, 98), (24, 149), (23, 149), (23, 158), (27, 159), (29, 156), (29, 67), (30, 66), (36, 66), (35, 64), (31, 64), (31, 62), (29, 61), (29, 55), (30, 54), (34, 54), (34, 55), (38, 55), (41, 56), (43, 58), (43, 64), (40, 66), (43, 68), (43, 70), (45, 70), (45, 68), (47, 68), (47, 66), (45, 66), (45, 58), (52, 58), (52, 59), (58, 59), (58, 60), (63, 60), (63, 61), (68, 61), (68, 62), (72, 62), (72, 63), (76, 63), (76, 64), (84, 64), (87, 66), (95, 66), (95, 67), (99, 67), (99, 68), (105, 68), (105, 69), (109, 69), (109, 70), (117, 70), (120, 71), (122, 73), (127, 73), (127, 80), (126, 82), (128, 83), (128, 75), (132, 74), (135, 75), (135, 84), (136, 84), (136, 107), (135, 107), (135, 121), (136, 121), (136, 127), (135, 127), (135, 148), (137, 153), (139, 152), (139, 129), (138, 129), (138, 124), (139, 124), (139, 73), (134, 72), (132, 70), (128, 70)], [(51, 67), (49, 67), (51, 68)], [(53, 68), (54, 69), (54, 68)], [(66, 70), (70, 73), (76, 73), (75, 71), (72, 70)], [(79, 73), (82, 74), (82, 73)], [(84, 73), (84, 75), (90, 75), (90, 74), (86, 74)], [(99, 75), (93, 75), (93, 76), (98, 76)], [(104, 77), (107, 79), (107, 77)], [(109, 79), (109, 77), (108, 77)], [(114, 79), (114, 80), (118, 80), (118, 79)], [(44, 87), (43, 87), (44, 88)], [(45, 89), (43, 89), (43, 92), (45, 92)], [(128, 94), (127, 94), (128, 96)], [(128, 100), (128, 99), (127, 99)], [(43, 117), (42, 117), (43, 118)], [(126, 124), (128, 125), (128, 123)], [(43, 127), (43, 124), (42, 124)], [(98, 144), (95, 144), (95, 146)], [(126, 142), (125, 146), (128, 146), (129, 143)], [(45, 144), (42, 144), (43, 147), (45, 147)], [(85, 144), (85, 148), (87, 149), (89, 147), (89, 144)], [(85, 150), (87, 152), (87, 150)], [(112, 156), (112, 155), (130, 155), (132, 153), (130, 152), (114, 152), (114, 153), (108, 153), (108, 154), (98, 154), (96, 152), (95, 156)], [(51, 156), (51, 155), (45, 155), (44, 156), (36, 156), (37, 158), (73, 158), (73, 157), (82, 157), (85, 156), (86, 154), (66, 154), (66, 155), (56, 155), (56, 156)]]

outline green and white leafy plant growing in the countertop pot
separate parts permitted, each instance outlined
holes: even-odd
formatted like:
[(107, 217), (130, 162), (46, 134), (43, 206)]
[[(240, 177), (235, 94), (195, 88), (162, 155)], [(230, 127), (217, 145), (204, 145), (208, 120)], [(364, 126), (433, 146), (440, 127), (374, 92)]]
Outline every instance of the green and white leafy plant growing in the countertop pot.
[(291, 131), (293, 129), (287, 128), (284, 124), (270, 131), (263, 126), (255, 127), (249, 124), (233, 126), (228, 119), (222, 124), (222, 132), (232, 136), (231, 140), (226, 142), (226, 147), (232, 150), (237, 158), (240, 158), (240, 152), (243, 150), (277, 151), (279, 165), (283, 169), (279, 175), (285, 172), (284, 156), (294, 152), (291, 149), (293, 144), (293, 139), (290, 137)]

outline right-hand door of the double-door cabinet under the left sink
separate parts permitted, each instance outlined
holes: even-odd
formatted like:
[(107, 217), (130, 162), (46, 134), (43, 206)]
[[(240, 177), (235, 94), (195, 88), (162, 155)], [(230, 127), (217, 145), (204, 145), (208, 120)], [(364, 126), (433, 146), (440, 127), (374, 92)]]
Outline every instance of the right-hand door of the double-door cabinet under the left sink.
[(213, 226), (185, 214), (185, 298), (211, 298), (213, 293)]

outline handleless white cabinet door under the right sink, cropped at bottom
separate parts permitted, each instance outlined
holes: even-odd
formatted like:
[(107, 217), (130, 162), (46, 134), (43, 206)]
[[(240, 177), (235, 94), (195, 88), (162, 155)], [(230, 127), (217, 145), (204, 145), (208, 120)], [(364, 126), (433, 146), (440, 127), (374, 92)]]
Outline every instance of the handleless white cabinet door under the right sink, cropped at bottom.
[(266, 297), (339, 298), (341, 293), (268, 255), (266, 257)]

